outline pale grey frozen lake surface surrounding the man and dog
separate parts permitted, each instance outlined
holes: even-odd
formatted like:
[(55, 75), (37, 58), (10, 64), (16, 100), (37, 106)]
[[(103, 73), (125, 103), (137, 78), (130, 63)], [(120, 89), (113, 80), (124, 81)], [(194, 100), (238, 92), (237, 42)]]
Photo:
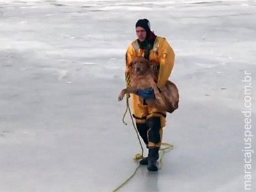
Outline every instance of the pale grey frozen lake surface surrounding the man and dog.
[(241, 81), (251, 73), (256, 88), (256, 2), (208, 0), (0, 0), (0, 191), (112, 191), (131, 175), (140, 145), (117, 97), (143, 18), (176, 53), (180, 106), (163, 168), (141, 167), (120, 191), (244, 191)]

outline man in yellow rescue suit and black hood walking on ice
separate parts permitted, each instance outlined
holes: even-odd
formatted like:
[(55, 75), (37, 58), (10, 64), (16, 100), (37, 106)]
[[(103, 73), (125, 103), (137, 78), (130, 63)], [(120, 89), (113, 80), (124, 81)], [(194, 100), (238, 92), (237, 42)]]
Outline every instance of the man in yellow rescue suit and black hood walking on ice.
[[(138, 39), (129, 45), (126, 52), (127, 86), (129, 86), (128, 66), (136, 56), (143, 56), (157, 65), (159, 70), (157, 86), (161, 90), (172, 72), (175, 58), (173, 49), (165, 38), (156, 36), (150, 30), (150, 22), (147, 19), (140, 19), (136, 22), (136, 35)], [(166, 125), (166, 111), (148, 107), (143, 99), (143, 96), (147, 94), (147, 90), (140, 90), (140, 96), (132, 94), (132, 109), (138, 132), (148, 148), (148, 156), (143, 158), (140, 164), (147, 164), (148, 171), (156, 172), (163, 127)]]

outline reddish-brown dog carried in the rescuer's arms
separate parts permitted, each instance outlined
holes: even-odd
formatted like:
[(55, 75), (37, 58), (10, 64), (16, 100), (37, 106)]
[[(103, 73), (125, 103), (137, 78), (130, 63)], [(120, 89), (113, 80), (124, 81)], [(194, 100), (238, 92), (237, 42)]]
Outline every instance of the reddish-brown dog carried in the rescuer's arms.
[(143, 57), (136, 57), (129, 66), (129, 75), (131, 77), (130, 86), (121, 91), (118, 100), (124, 99), (126, 93), (136, 94), (138, 90), (152, 87), (156, 98), (146, 100), (148, 106), (169, 113), (178, 108), (179, 90), (177, 86), (171, 81), (167, 81), (159, 92), (156, 84), (158, 69), (154, 63), (150, 63)]

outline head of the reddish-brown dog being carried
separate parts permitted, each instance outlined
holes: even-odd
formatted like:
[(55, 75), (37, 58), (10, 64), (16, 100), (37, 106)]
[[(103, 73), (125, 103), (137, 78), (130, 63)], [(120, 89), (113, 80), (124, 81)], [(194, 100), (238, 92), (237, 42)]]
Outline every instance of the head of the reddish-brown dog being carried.
[(150, 69), (150, 63), (143, 57), (136, 57), (132, 60), (130, 67), (133, 74), (143, 75)]

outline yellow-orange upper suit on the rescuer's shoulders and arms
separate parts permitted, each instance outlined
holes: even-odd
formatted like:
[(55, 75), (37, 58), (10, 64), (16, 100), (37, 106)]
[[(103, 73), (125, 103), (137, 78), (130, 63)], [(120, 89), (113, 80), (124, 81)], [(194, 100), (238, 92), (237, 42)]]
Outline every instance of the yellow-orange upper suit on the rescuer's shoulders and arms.
[[(125, 75), (129, 78), (128, 66), (136, 56), (144, 56), (145, 50), (140, 49), (140, 45), (137, 40), (129, 45), (126, 52), (126, 68)], [(174, 65), (175, 53), (172, 47), (168, 44), (167, 40), (161, 36), (157, 36), (154, 42), (153, 49), (150, 50), (149, 61), (155, 61), (159, 63), (159, 75), (157, 85), (163, 87), (170, 74)]]

